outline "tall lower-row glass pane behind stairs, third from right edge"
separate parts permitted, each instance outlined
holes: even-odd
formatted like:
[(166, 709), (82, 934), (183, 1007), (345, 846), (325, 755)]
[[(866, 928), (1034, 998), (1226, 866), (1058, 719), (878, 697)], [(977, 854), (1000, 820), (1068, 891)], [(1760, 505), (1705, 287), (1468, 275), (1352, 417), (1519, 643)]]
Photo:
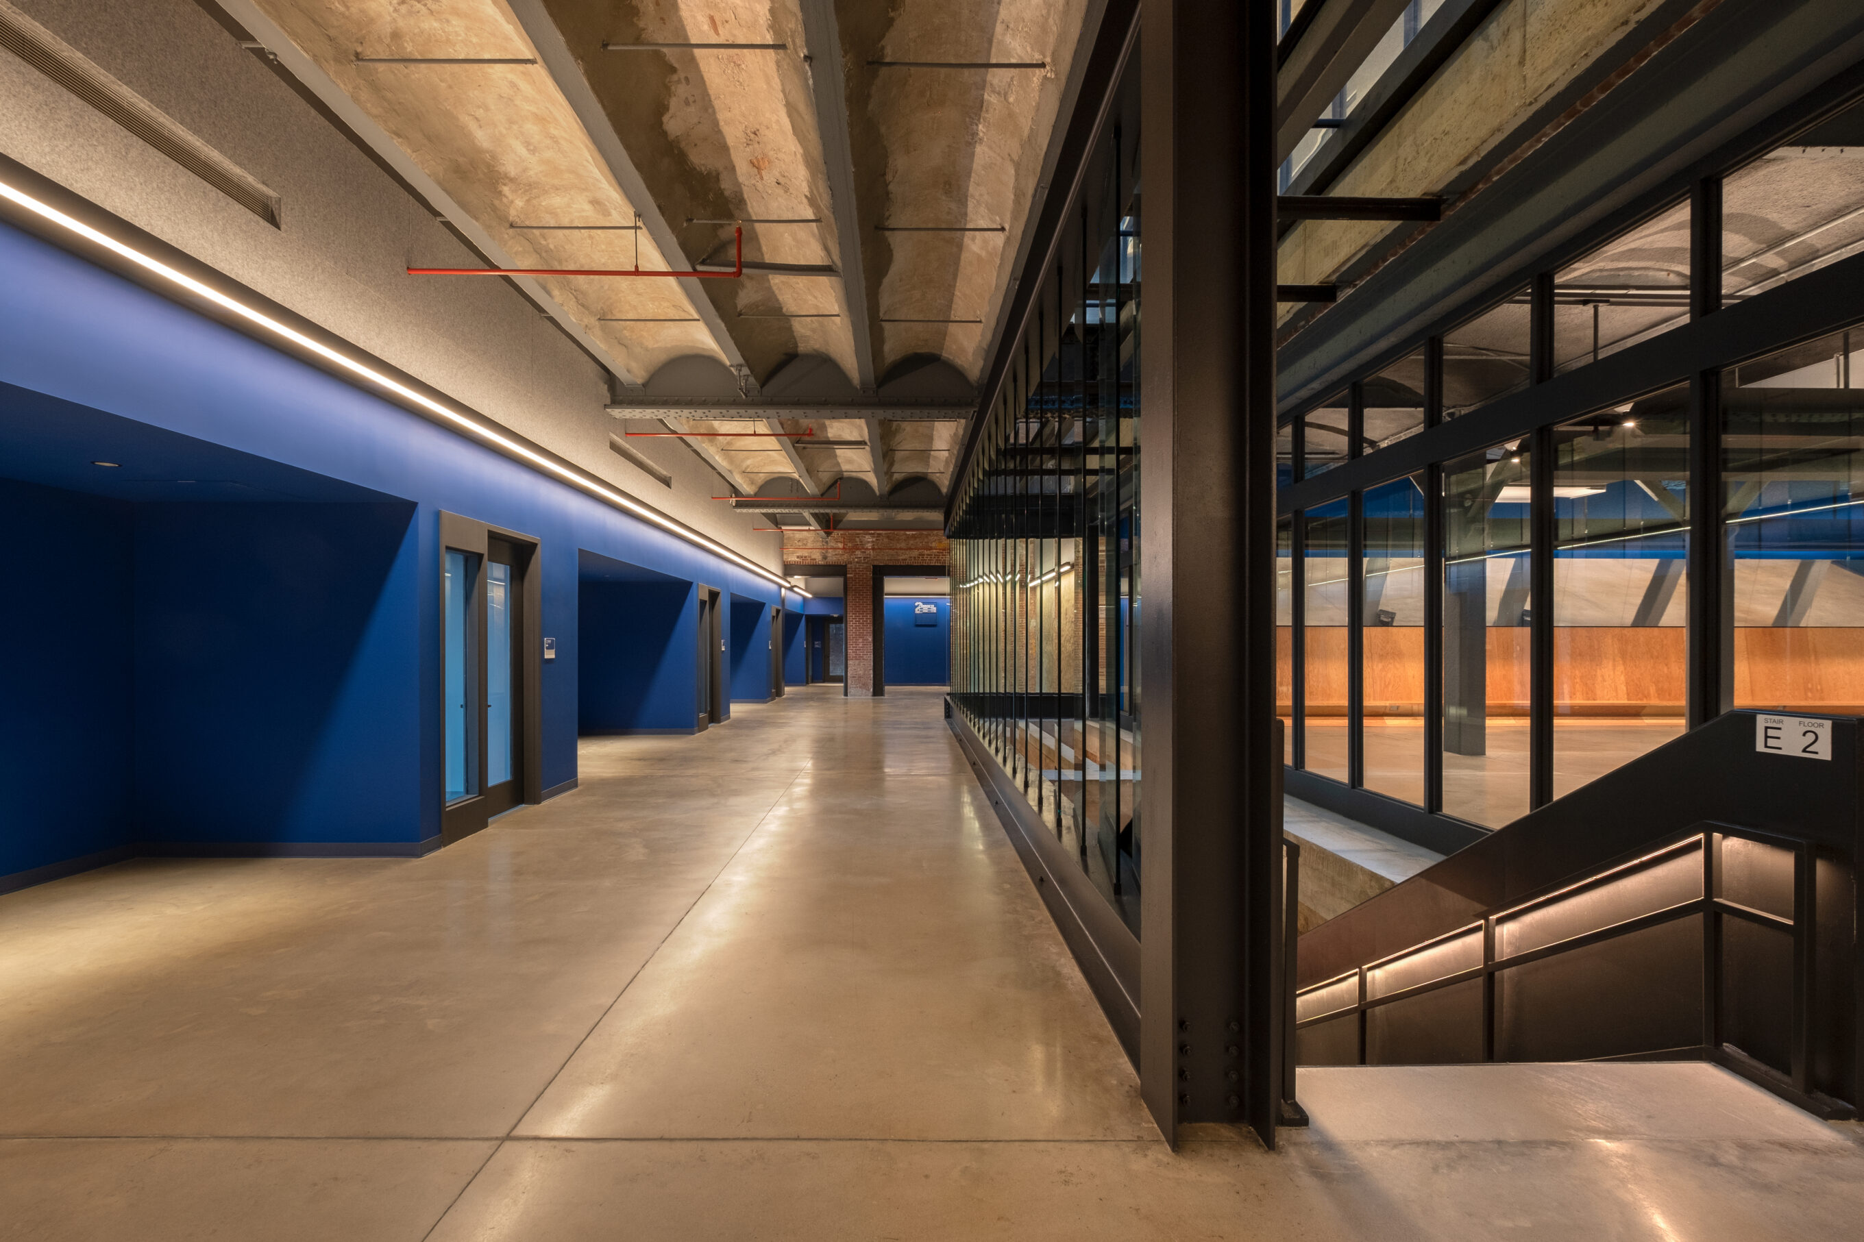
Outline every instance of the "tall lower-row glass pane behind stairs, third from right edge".
[(1491, 829), (1528, 810), (1528, 460), (1443, 467), (1443, 810)]

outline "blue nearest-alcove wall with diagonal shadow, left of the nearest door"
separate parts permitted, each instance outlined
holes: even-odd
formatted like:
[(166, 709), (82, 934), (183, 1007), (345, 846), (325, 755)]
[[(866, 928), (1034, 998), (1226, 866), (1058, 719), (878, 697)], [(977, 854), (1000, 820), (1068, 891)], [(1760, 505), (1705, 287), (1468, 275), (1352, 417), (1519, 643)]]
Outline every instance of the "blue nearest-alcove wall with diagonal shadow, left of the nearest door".
[(136, 506), (142, 840), (438, 832), (421, 817), (412, 518), (414, 505)]

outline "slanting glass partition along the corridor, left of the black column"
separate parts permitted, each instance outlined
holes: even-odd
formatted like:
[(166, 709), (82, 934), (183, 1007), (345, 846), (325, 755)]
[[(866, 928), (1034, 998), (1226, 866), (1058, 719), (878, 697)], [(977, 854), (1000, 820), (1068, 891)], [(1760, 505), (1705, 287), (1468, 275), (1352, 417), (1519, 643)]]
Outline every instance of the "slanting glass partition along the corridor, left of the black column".
[(949, 534), (954, 708), (1137, 933), (1143, 264), (1133, 88), (1118, 88), (1090, 188), (1010, 339)]

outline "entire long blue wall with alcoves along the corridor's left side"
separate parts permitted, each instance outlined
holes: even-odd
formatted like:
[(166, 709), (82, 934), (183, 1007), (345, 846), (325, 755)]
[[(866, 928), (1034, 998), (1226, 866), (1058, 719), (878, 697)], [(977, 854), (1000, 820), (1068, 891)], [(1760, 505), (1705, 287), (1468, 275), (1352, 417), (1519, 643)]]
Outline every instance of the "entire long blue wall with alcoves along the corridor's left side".
[[(26, 771), (13, 788), (32, 790), (0, 821), (0, 873), (136, 840), (438, 834), (442, 510), (541, 542), (537, 633), (557, 652), (542, 665), (544, 788), (576, 776), (582, 659), (600, 646), (578, 635), (578, 549), (744, 605), (720, 618), (727, 652), (738, 642), (727, 687), (751, 676), (747, 696), (768, 696), (775, 583), (6, 225), (0, 270), (0, 475), (19, 480), (4, 484), (13, 508), (37, 514), (13, 529), (48, 527), (19, 564), (56, 587), (0, 629), (24, 668), (19, 702), (37, 704), (0, 702), (0, 771)], [(106, 499), (89, 460), (108, 436), (121, 439), (112, 460), (168, 454), (155, 480), (246, 488), (255, 503)], [(32, 488), (43, 495), (28, 505)], [(315, 499), (328, 503), (296, 503)], [(688, 609), (664, 680), (637, 702), (671, 719), (662, 704), (684, 696), (675, 728), (695, 715), (692, 659), (677, 654), (693, 626)], [(48, 644), (82, 646), (84, 665)], [(28, 806), (32, 823), (13, 823)]]

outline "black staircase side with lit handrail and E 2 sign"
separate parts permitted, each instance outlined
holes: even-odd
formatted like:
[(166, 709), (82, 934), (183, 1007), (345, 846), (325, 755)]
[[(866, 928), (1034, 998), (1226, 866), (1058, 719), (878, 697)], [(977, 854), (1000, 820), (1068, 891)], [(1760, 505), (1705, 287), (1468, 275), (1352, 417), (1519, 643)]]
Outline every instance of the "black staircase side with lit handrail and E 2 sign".
[[(1821, 717), (1827, 719), (1827, 717)], [(1858, 1100), (1858, 721), (1730, 711), (1299, 938), (1301, 1065), (1707, 1060)]]

